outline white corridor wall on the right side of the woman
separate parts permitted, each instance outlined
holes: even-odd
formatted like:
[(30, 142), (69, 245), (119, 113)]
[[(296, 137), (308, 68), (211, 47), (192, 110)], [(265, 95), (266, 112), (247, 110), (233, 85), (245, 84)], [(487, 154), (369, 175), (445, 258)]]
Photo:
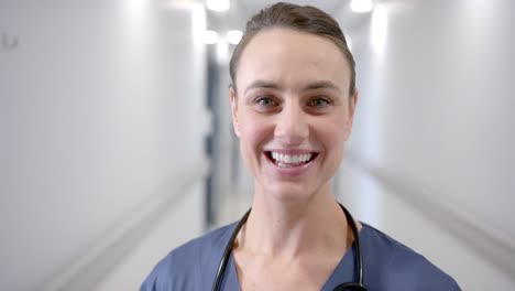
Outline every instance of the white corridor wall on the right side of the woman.
[[(413, 0), (380, 1), (360, 25), (341, 19), (361, 93), (349, 153), (399, 186), (383, 201), (348, 195), (373, 208), (360, 218), (431, 249), (463, 290), (515, 285), (514, 17), (511, 0)], [(427, 219), (435, 205), (487, 238), (449, 236), (456, 222)]]

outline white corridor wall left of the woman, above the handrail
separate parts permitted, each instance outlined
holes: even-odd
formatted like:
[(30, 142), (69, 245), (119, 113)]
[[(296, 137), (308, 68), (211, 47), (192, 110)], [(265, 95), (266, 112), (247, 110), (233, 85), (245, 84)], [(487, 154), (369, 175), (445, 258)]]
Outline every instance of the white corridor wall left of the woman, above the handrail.
[(0, 2), (2, 289), (52, 282), (204, 159), (202, 15), (157, 3)]

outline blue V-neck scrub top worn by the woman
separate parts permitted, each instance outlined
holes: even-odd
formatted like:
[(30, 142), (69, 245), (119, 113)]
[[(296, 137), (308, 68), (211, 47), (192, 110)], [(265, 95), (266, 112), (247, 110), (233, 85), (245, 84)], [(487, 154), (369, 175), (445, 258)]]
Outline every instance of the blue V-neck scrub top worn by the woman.
[[(235, 224), (216, 229), (176, 248), (155, 266), (141, 291), (209, 291), (218, 265)], [(457, 282), (423, 256), (380, 230), (363, 224), (359, 233), (363, 257), (363, 280), (371, 291), (454, 291)], [(355, 282), (354, 246), (346, 252), (322, 291), (343, 282)], [(220, 290), (239, 291), (232, 255)]]

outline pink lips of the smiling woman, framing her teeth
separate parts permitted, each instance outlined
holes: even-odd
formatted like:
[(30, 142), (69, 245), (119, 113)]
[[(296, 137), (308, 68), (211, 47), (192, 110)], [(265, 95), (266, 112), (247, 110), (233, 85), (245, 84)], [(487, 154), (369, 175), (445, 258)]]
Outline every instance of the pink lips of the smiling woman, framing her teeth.
[[(274, 160), (270, 157), (270, 152), (278, 152), (283, 154), (307, 154), (311, 153), (315, 157), (308, 162), (299, 165), (295, 165), (292, 168), (281, 168), (275, 164)], [(265, 150), (263, 151), (264, 159), (266, 160), (266, 164), (270, 165), (272, 172), (277, 176), (282, 177), (296, 177), (302, 176), (309, 171), (309, 169), (314, 165), (314, 162), (318, 158), (318, 152), (310, 151), (310, 150), (302, 150), (302, 149), (277, 149), (277, 150)]]

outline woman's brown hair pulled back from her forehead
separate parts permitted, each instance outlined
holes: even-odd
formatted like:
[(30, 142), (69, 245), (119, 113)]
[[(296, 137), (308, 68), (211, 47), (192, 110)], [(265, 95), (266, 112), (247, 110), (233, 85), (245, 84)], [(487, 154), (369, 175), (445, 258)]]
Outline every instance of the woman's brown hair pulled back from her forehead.
[(274, 28), (292, 29), (330, 39), (343, 53), (351, 71), (349, 95), (355, 91), (355, 62), (350, 52), (346, 36), (338, 22), (328, 13), (310, 7), (278, 2), (253, 15), (246, 22), (246, 29), (240, 43), (234, 47), (229, 63), (232, 87), (235, 88), (235, 75), (241, 54), (254, 35)]

